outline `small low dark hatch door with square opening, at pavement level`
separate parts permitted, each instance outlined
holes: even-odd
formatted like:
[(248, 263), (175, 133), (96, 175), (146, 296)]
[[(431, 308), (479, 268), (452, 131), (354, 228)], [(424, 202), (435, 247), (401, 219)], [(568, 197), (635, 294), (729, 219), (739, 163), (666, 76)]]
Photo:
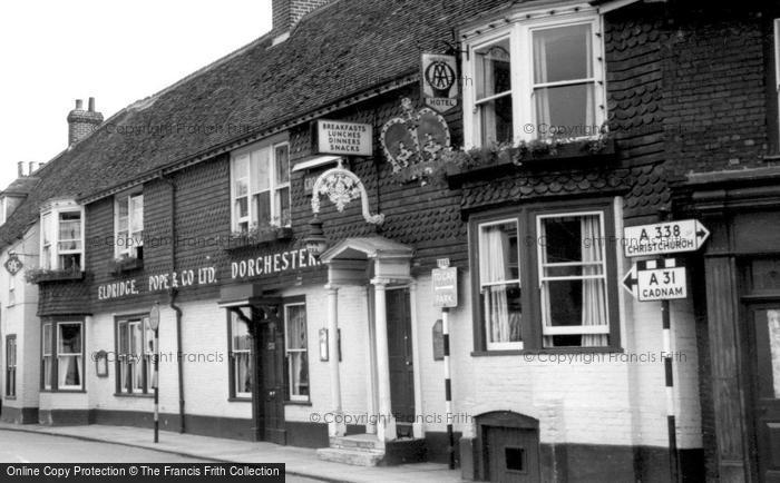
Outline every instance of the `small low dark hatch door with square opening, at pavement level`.
[(535, 430), (488, 426), (485, 431), (491, 482), (525, 483), (539, 480), (539, 437)]

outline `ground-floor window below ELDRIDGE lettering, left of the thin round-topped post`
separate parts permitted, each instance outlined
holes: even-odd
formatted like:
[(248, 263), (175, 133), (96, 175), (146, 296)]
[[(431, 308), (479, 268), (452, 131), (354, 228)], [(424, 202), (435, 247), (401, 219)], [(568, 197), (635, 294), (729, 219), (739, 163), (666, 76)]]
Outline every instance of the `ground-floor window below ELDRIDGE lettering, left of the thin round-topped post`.
[(154, 331), (148, 316), (117, 319), (117, 394), (146, 394), (152, 385)]

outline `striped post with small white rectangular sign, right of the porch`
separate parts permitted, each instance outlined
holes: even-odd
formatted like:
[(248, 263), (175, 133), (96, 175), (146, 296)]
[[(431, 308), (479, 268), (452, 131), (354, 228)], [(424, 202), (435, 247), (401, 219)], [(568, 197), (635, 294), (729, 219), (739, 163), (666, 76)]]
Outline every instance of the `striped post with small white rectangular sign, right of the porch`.
[(441, 308), (441, 335), (445, 348), (445, 413), (447, 415), (447, 454), (449, 469), (455, 470), (455, 433), (452, 432), (452, 382), (449, 362), (449, 309), (458, 306), (458, 269), (449, 266), (449, 258), (438, 260), (433, 268), (433, 306)]

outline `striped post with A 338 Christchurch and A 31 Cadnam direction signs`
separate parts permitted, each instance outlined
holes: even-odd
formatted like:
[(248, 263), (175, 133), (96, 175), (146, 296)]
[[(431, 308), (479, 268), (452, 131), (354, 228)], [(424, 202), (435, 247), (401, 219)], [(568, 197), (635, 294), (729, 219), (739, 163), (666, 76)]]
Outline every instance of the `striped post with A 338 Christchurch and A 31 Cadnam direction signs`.
[[(624, 228), (623, 248), (626, 257), (696, 252), (710, 237), (710, 230), (696, 219), (671, 221), (666, 210), (662, 211), (661, 217), (663, 223)], [(623, 278), (623, 286), (640, 302), (661, 300), (669, 467), (672, 481), (676, 482), (680, 479), (680, 461), (672, 367), (672, 317), (669, 300), (688, 297), (685, 267), (679, 266), (675, 258), (637, 262)]]

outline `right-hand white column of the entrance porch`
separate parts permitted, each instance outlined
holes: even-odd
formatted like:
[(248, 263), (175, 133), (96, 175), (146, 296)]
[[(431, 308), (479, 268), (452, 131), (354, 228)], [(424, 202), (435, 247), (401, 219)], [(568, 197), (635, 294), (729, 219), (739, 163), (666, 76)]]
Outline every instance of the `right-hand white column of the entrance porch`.
[(377, 321), (377, 382), (379, 383), (379, 416), (377, 436), (379, 441), (396, 440), (396, 418), (392, 417), (392, 404), (390, 400), (390, 354), (388, 351), (388, 314), (386, 288), (387, 279), (374, 278), (371, 280), (374, 287)]

